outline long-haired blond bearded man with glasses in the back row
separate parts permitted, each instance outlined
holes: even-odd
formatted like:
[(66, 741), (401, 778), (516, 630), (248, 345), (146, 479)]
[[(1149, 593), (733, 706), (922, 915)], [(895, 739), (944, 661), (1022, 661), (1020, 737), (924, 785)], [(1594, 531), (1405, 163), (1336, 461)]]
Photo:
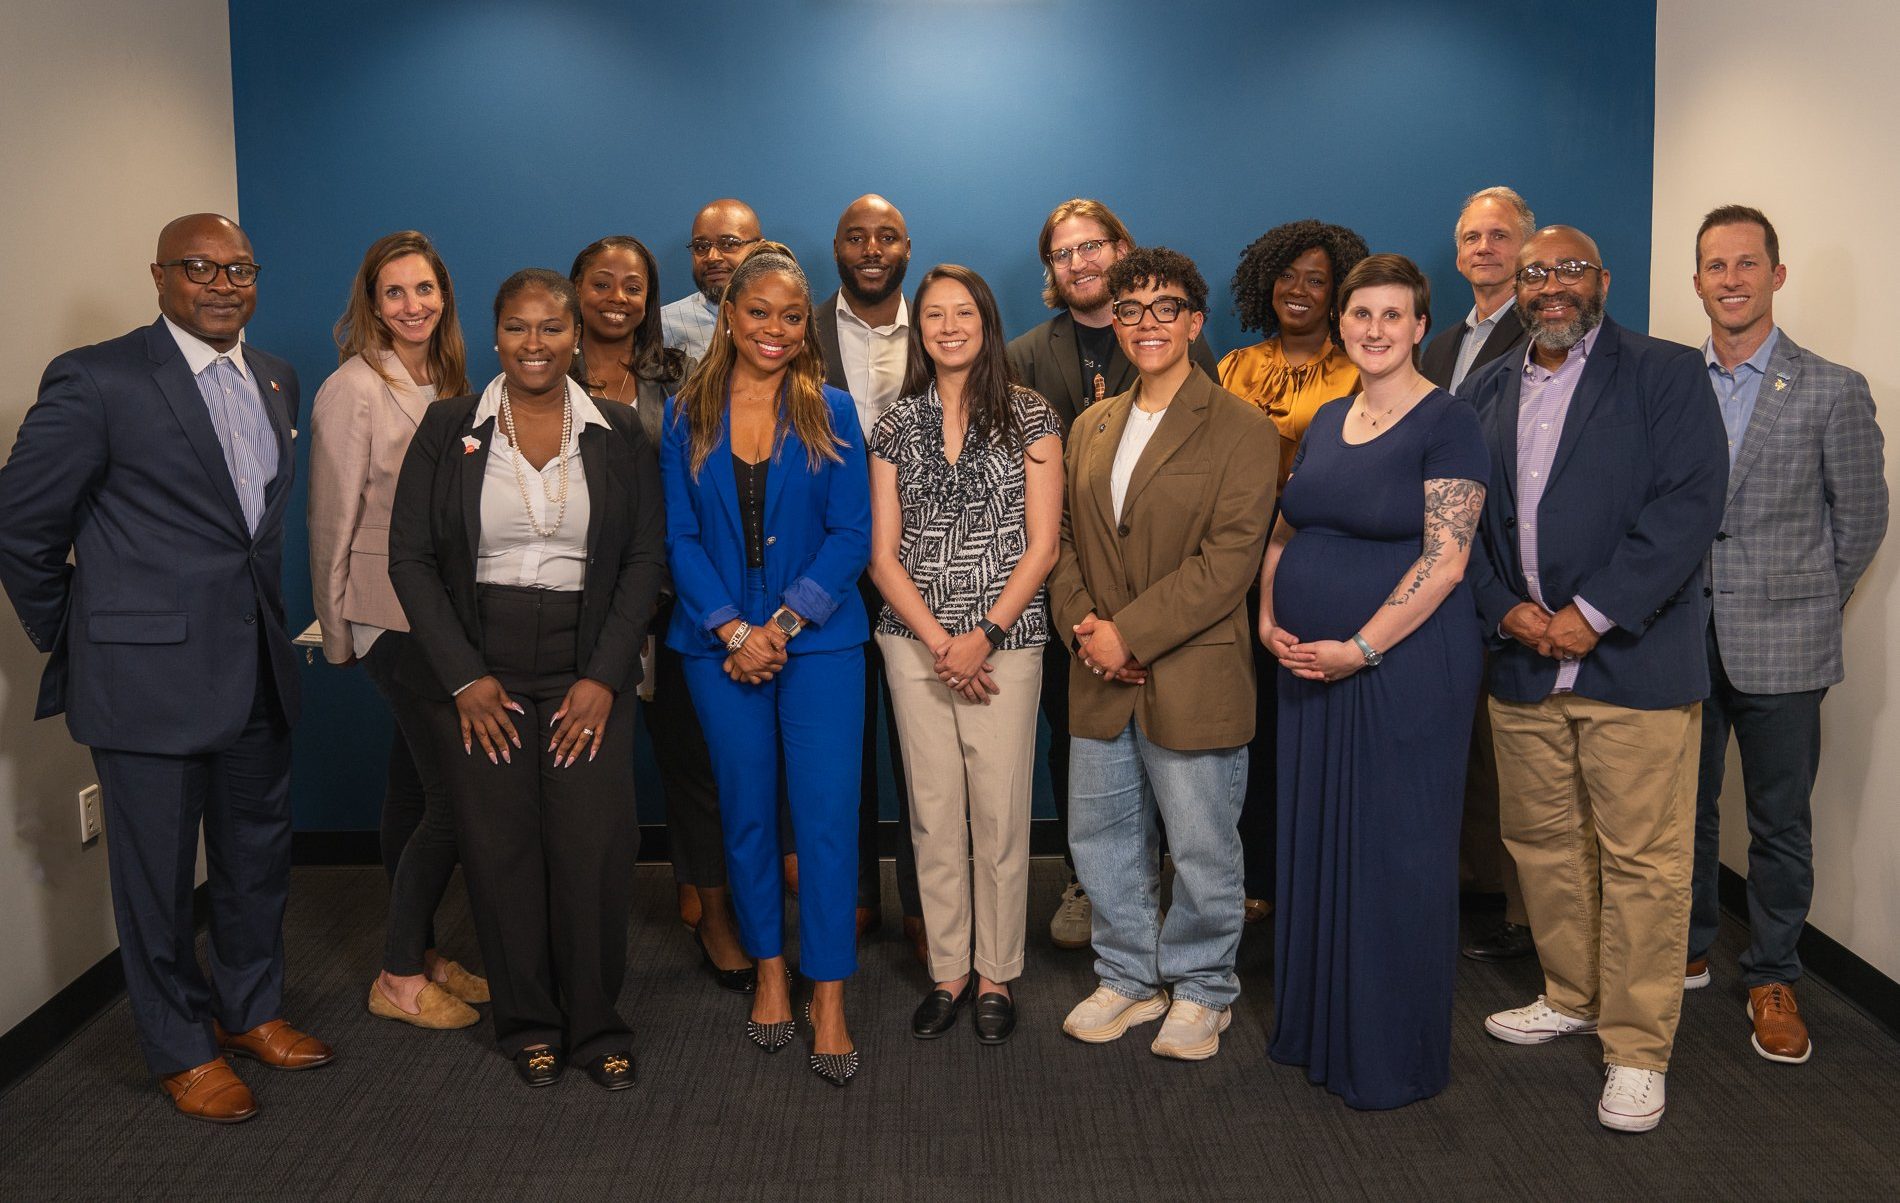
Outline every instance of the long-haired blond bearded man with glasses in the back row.
[[(1018, 384), (1039, 391), (1062, 418), (1068, 441), (1075, 414), (1096, 401), (1134, 388), (1134, 365), (1121, 353), (1108, 315), (1108, 268), (1134, 249), (1134, 236), (1098, 200), (1074, 198), (1056, 205), (1036, 239), (1043, 262), (1043, 304), (1056, 312), (1049, 321), (1009, 340), (1009, 371)], [(1218, 380), (1214, 352), (1195, 334), (1188, 357)], [(1056, 834), (1068, 848), (1068, 650), (1060, 640), (1043, 648), (1043, 718), (1049, 722), (1049, 787), (1056, 804)], [(1089, 895), (1075, 880), (1062, 891), (1049, 939), (1058, 948), (1087, 948)]]

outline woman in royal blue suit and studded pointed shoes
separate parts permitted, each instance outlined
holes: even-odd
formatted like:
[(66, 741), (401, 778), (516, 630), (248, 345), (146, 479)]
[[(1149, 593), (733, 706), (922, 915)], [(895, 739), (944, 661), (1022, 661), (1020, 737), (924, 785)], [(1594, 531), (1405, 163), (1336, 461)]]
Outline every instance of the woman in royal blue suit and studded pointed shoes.
[(857, 971), (857, 791), (870, 629), (870, 485), (851, 397), (825, 388), (811, 287), (779, 243), (726, 283), (712, 346), (667, 403), (661, 477), (678, 604), (667, 646), (712, 751), (739, 939), (758, 958), (747, 1034), (792, 1040), (779, 785), (800, 865), (798, 945), (813, 983), (811, 1070), (857, 1072), (844, 979)]

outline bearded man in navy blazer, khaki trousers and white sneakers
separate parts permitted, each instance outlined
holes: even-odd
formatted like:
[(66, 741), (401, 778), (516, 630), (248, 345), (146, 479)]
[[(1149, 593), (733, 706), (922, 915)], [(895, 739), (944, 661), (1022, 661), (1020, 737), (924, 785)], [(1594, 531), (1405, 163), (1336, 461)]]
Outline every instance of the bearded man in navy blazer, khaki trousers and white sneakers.
[(1524, 1045), (1596, 1032), (1596, 1117), (1640, 1133), (1662, 1119), (1682, 1013), (1727, 456), (1700, 357), (1606, 319), (1607, 293), (1588, 236), (1539, 230), (1518, 253), (1528, 353), (1467, 386), (1492, 449), (1471, 580), (1495, 631), (1501, 819), (1545, 973), (1484, 1026)]

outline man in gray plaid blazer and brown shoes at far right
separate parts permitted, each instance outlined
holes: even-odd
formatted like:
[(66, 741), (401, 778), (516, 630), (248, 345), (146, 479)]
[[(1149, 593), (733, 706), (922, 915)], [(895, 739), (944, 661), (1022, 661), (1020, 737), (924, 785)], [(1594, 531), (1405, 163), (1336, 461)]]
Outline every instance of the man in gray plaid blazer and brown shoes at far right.
[(1758, 209), (1725, 205), (1695, 238), (1702, 344), (1729, 437), (1729, 498), (1708, 553), (1712, 692), (1702, 703), (1695, 903), (1683, 986), (1708, 984), (1716, 943), (1721, 770), (1729, 732), (1748, 794), (1748, 926), (1742, 983), (1754, 1047), (1799, 1064), (1813, 1053), (1794, 1000), (1796, 941), (1814, 893), (1809, 792), (1820, 766), (1820, 699), (1841, 680), (1841, 608), (1887, 532), (1881, 430), (1866, 378), (1796, 346), (1775, 325), (1786, 277)]

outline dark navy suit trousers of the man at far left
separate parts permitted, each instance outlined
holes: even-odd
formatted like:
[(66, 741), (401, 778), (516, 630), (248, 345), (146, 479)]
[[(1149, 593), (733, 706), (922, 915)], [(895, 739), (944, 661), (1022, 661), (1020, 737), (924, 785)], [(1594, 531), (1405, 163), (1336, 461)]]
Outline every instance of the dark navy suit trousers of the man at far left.
[[(258, 667), (268, 673), (262, 656)], [(230, 747), (196, 756), (95, 747), (93, 766), (112, 832), (112, 916), (139, 1047), (152, 1074), (190, 1070), (218, 1057), (213, 1019), (226, 1032), (283, 1019), (291, 728), (258, 680), (251, 718)], [(192, 926), (200, 825), (209, 983)]]

